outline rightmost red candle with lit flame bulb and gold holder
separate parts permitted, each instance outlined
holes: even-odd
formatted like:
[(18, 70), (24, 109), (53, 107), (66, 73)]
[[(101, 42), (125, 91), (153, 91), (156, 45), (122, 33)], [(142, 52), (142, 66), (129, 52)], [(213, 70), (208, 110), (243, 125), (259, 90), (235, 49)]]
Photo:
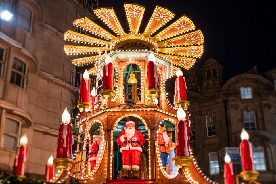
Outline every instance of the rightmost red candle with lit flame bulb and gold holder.
[(242, 141), (239, 146), (243, 170), (243, 172), (241, 172), (241, 175), (243, 176), (244, 180), (256, 180), (259, 173), (255, 171), (252, 143), (248, 141), (249, 135), (245, 129), (242, 129), (241, 140)]

